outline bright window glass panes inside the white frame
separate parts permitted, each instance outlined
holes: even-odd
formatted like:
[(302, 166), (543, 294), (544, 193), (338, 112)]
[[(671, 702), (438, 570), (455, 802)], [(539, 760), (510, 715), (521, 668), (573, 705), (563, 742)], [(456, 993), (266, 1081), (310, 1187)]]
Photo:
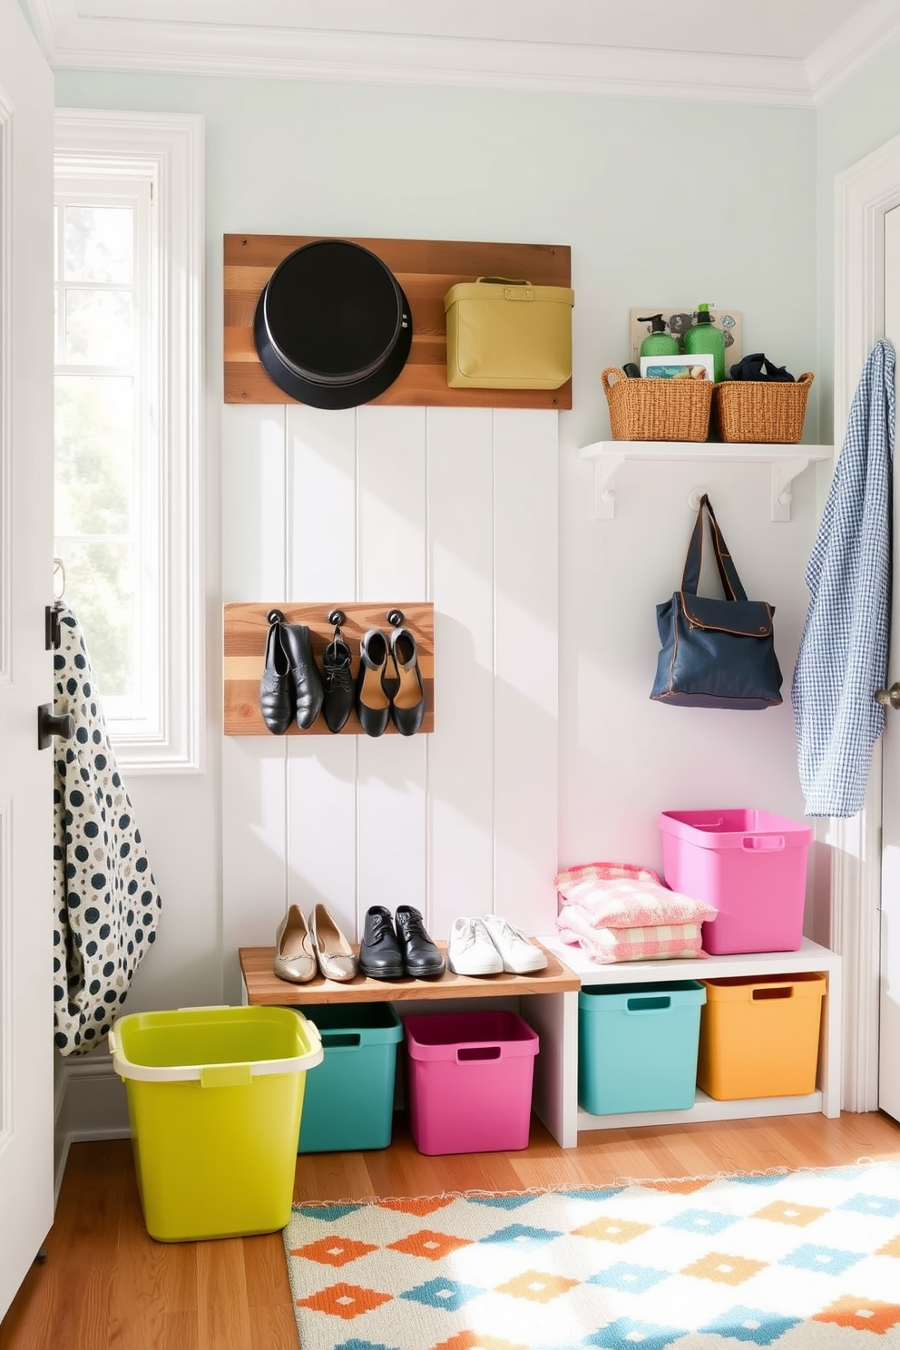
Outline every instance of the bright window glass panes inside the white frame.
[(162, 693), (151, 192), (151, 178), (58, 177), (54, 211), (55, 552), (107, 720), (143, 740)]

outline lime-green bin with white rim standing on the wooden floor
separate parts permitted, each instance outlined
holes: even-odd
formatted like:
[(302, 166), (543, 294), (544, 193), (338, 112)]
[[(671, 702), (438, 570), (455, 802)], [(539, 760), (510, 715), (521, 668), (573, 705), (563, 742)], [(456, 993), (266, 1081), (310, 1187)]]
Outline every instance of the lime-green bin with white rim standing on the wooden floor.
[(109, 1049), (150, 1237), (283, 1228), (306, 1071), (322, 1060), (317, 1027), (279, 1007), (132, 1013), (113, 1025)]

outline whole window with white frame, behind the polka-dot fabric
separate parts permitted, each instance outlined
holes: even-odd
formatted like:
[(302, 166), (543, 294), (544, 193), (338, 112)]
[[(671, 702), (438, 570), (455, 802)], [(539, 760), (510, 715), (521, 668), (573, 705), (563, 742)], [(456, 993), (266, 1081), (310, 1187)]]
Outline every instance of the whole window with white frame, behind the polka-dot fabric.
[(202, 128), (65, 111), (55, 148), (55, 554), (116, 753), (200, 767)]

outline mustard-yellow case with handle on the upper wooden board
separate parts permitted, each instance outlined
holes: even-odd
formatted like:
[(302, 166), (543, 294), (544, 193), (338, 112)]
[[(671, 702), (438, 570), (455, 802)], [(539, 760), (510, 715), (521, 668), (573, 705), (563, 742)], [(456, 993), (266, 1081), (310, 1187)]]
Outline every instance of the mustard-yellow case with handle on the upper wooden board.
[(559, 389), (572, 374), (568, 286), (507, 277), (460, 282), (444, 296), (451, 389)]

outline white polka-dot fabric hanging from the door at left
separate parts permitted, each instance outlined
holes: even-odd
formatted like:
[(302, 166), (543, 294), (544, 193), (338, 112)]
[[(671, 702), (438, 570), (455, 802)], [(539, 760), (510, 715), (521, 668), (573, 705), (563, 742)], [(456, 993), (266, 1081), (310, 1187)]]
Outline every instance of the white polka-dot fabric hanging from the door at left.
[(109, 744), (81, 626), (58, 609), (54, 713), (55, 1045), (86, 1054), (107, 1034), (157, 936), (161, 898)]

